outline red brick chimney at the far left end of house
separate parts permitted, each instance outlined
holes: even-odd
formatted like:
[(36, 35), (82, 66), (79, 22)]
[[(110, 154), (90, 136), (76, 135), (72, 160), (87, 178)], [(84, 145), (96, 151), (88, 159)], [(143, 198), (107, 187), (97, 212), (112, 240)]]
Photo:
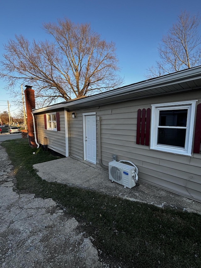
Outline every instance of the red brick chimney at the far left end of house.
[[(35, 95), (34, 90), (31, 89), (32, 86), (25, 85), (24, 96), (26, 102), (26, 112), (27, 112), (27, 128), (28, 128), (28, 137), (29, 137), (29, 145), (32, 148), (37, 147), (35, 143), (35, 136), (34, 136), (34, 123), (32, 117), (32, 109), (35, 109)], [(38, 131), (37, 131), (37, 122), (35, 119), (35, 131), (36, 131), (36, 138), (38, 140)]]

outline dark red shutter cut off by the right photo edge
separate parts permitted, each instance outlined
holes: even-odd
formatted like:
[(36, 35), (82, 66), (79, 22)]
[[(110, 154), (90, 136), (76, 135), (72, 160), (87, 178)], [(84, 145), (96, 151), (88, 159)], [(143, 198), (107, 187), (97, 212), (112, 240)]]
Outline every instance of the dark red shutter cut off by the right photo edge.
[(197, 107), (193, 153), (199, 154), (201, 142), (201, 103)]

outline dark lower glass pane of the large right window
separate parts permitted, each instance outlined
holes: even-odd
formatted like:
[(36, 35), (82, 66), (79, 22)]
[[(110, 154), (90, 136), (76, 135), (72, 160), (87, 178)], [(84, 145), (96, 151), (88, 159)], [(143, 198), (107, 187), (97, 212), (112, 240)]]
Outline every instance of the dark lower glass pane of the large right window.
[(158, 129), (158, 144), (185, 147), (186, 129)]

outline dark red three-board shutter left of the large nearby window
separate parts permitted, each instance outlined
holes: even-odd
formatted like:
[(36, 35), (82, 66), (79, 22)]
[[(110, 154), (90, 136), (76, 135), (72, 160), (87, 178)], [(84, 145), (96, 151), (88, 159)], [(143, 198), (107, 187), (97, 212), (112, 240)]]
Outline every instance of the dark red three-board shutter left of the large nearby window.
[(149, 145), (151, 109), (138, 109), (136, 144)]

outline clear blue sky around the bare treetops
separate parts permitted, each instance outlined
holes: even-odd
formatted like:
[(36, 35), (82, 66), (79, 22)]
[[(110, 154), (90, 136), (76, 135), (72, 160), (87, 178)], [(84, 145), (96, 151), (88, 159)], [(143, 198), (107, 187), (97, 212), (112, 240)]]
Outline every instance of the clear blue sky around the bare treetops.
[[(123, 85), (129, 85), (145, 79), (147, 68), (159, 59), (157, 46), (162, 36), (176, 23), (181, 11), (194, 15), (200, 8), (200, 0), (1, 1), (0, 59), (3, 44), (14, 39), (15, 34), (22, 34), (30, 41), (45, 40), (48, 36), (42, 24), (67, 17), (74, 23), (90, 23), (102, 39), (115, 42)], [(4, 90), (5, 86), (0, 80), (0, 111), (8, 110), (8, 100), (13, 114), (18, 106)]]

